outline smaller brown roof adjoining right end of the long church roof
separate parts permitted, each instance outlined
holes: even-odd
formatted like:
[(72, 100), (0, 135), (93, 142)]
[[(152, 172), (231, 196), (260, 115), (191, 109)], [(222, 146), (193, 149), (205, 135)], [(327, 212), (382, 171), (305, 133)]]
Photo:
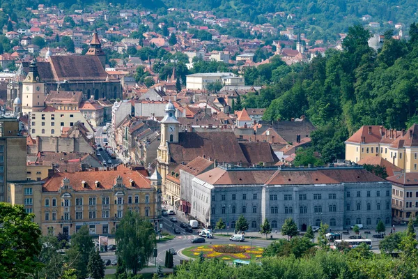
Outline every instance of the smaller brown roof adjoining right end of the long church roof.
[(279, 160), (268, 142), (240, 142), (240, 146), (250, 164), (275, 163)]

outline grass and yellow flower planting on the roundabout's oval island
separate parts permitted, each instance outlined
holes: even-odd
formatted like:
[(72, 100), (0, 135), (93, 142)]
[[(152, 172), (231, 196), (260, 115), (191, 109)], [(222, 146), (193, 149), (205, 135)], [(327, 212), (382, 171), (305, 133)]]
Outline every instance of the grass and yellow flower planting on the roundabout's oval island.
[[(263, 254), (264, 248), (257, 247), (257, 246), (250, 246), (249, 243), (244, 244), (226, 244), (226, 245), (219, 245), (219, 246), (243, 246), (245, 247), (245, 252), (233, 252), (233, 253), (222, 253), (222, 252), (216, 252), (214, 247), (212, 245), (202, 245), (202, 246), (193, 246), (186, 248), (182, 250), (182, 254), (186, 257), (191, 257), (192, 259), (199, 258), (199, 255), (201, 252), (203, 252), (204, 257), (210, 259), (210, 258), (219, 258), (223, 259), (226, 262), (232, 262), (235, 259), (259, 259), (261, 258), (261, 255)], [(215, 247), (219, 247), (215, 246)]]

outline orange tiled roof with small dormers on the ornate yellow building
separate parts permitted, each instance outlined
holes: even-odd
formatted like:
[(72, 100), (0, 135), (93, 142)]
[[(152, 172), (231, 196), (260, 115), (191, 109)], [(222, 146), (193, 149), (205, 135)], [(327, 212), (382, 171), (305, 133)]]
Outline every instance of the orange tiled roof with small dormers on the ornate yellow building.
[[(122, 184), (126, 188), (151, 188), (150, 181), (136, 170), (126, 167), (118, 167), (117, 170), (90, 171), (90, 172), (59, 172), (51, 176), (42, 186), (42, 192), (56, 192), (63, 185), (63, 179), (70, 179), (70, 186), (76, 191), (111, 190), (116, 184), (116, 178), (121, 176)], [(86, 181), (84, 188), (82, 181)], [(100, 182), (100, 187), (95, 186), (95, 181)], [(131, 186), (131, 181), (134, 185)]]

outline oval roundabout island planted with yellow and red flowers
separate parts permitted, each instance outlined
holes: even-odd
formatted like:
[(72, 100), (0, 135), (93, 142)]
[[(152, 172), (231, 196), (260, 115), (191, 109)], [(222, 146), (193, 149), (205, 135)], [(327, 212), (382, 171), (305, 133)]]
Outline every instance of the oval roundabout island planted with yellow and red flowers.
[(260, 259), (263, 257), (264, 248), (259, 246), (235, 245), (235, 244), (217, 244), (194, 246), (181, 250), (185, 257), (197, 259), (203, 257), (206, 259), (219, 258), (226, 262), (235, 259)]

